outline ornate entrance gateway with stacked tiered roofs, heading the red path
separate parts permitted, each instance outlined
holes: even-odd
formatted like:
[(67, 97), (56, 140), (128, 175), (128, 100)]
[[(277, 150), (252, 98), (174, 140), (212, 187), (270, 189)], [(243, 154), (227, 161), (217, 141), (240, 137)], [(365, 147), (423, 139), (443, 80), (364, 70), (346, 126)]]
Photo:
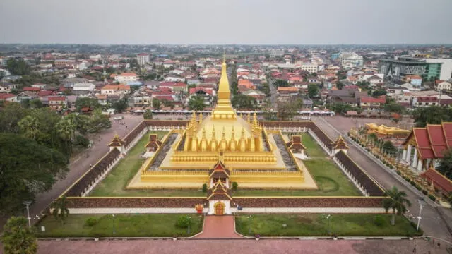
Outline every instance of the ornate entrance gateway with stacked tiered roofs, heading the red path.
[(209, 189), (207, 200), (209, 202), (208, 214), (224, 215), (232, 214), (230, 189), (230, 170), (225, 167), (221, 160), (209, 171)]

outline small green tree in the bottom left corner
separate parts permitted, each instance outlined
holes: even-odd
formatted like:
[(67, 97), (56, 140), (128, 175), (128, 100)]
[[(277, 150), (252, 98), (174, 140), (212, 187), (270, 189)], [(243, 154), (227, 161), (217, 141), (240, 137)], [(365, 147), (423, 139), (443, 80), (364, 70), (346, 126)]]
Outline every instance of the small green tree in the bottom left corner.
[(5, 254), (37, 253), (37, 240), (25, 217), (11, 217), (4, 226), (1, 242)]

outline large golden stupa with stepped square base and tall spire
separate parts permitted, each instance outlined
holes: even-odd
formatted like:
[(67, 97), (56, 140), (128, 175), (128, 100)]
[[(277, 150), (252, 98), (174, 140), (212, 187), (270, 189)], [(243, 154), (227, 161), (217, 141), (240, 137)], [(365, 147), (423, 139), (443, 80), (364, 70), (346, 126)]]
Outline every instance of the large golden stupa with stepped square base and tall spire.
[[(286, 159), (292, 157), (294, 165), (289, 169), (285, 164), (275, 141), (283, 140), (279, 131), (267, 133), (256, 114), (246, 119), (237, 116), (226, 69), (223, 60), (218, 104), (212, 114), (193, 113), (184, 130), (165, 136), (162, 147), (146, 160), (127, 188), (199, 188), (208, 183), (208, 171), (220, 161), (241, 188), (317, 188), (302, 161), (287, 147), (283, 153)], [(165, 143), (171, 145), (167, 150)]]

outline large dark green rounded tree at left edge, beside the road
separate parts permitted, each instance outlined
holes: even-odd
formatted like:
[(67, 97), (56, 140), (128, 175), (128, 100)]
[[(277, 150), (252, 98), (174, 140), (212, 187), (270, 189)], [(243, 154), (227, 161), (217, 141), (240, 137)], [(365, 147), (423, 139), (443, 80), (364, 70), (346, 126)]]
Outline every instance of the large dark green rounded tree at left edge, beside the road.
[(22, 135), (0, 133), (0, 212), (20, 210), (23, 200), (34, 200), (65, 176), (61, 152)]

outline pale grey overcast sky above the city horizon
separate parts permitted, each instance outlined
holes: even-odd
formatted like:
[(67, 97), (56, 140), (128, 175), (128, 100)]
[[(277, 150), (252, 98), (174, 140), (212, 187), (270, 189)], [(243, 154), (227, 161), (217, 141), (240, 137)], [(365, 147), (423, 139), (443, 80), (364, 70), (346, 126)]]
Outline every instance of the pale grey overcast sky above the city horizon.
[(452, 43), (452, 0), (0, 0), (0, 43)]

